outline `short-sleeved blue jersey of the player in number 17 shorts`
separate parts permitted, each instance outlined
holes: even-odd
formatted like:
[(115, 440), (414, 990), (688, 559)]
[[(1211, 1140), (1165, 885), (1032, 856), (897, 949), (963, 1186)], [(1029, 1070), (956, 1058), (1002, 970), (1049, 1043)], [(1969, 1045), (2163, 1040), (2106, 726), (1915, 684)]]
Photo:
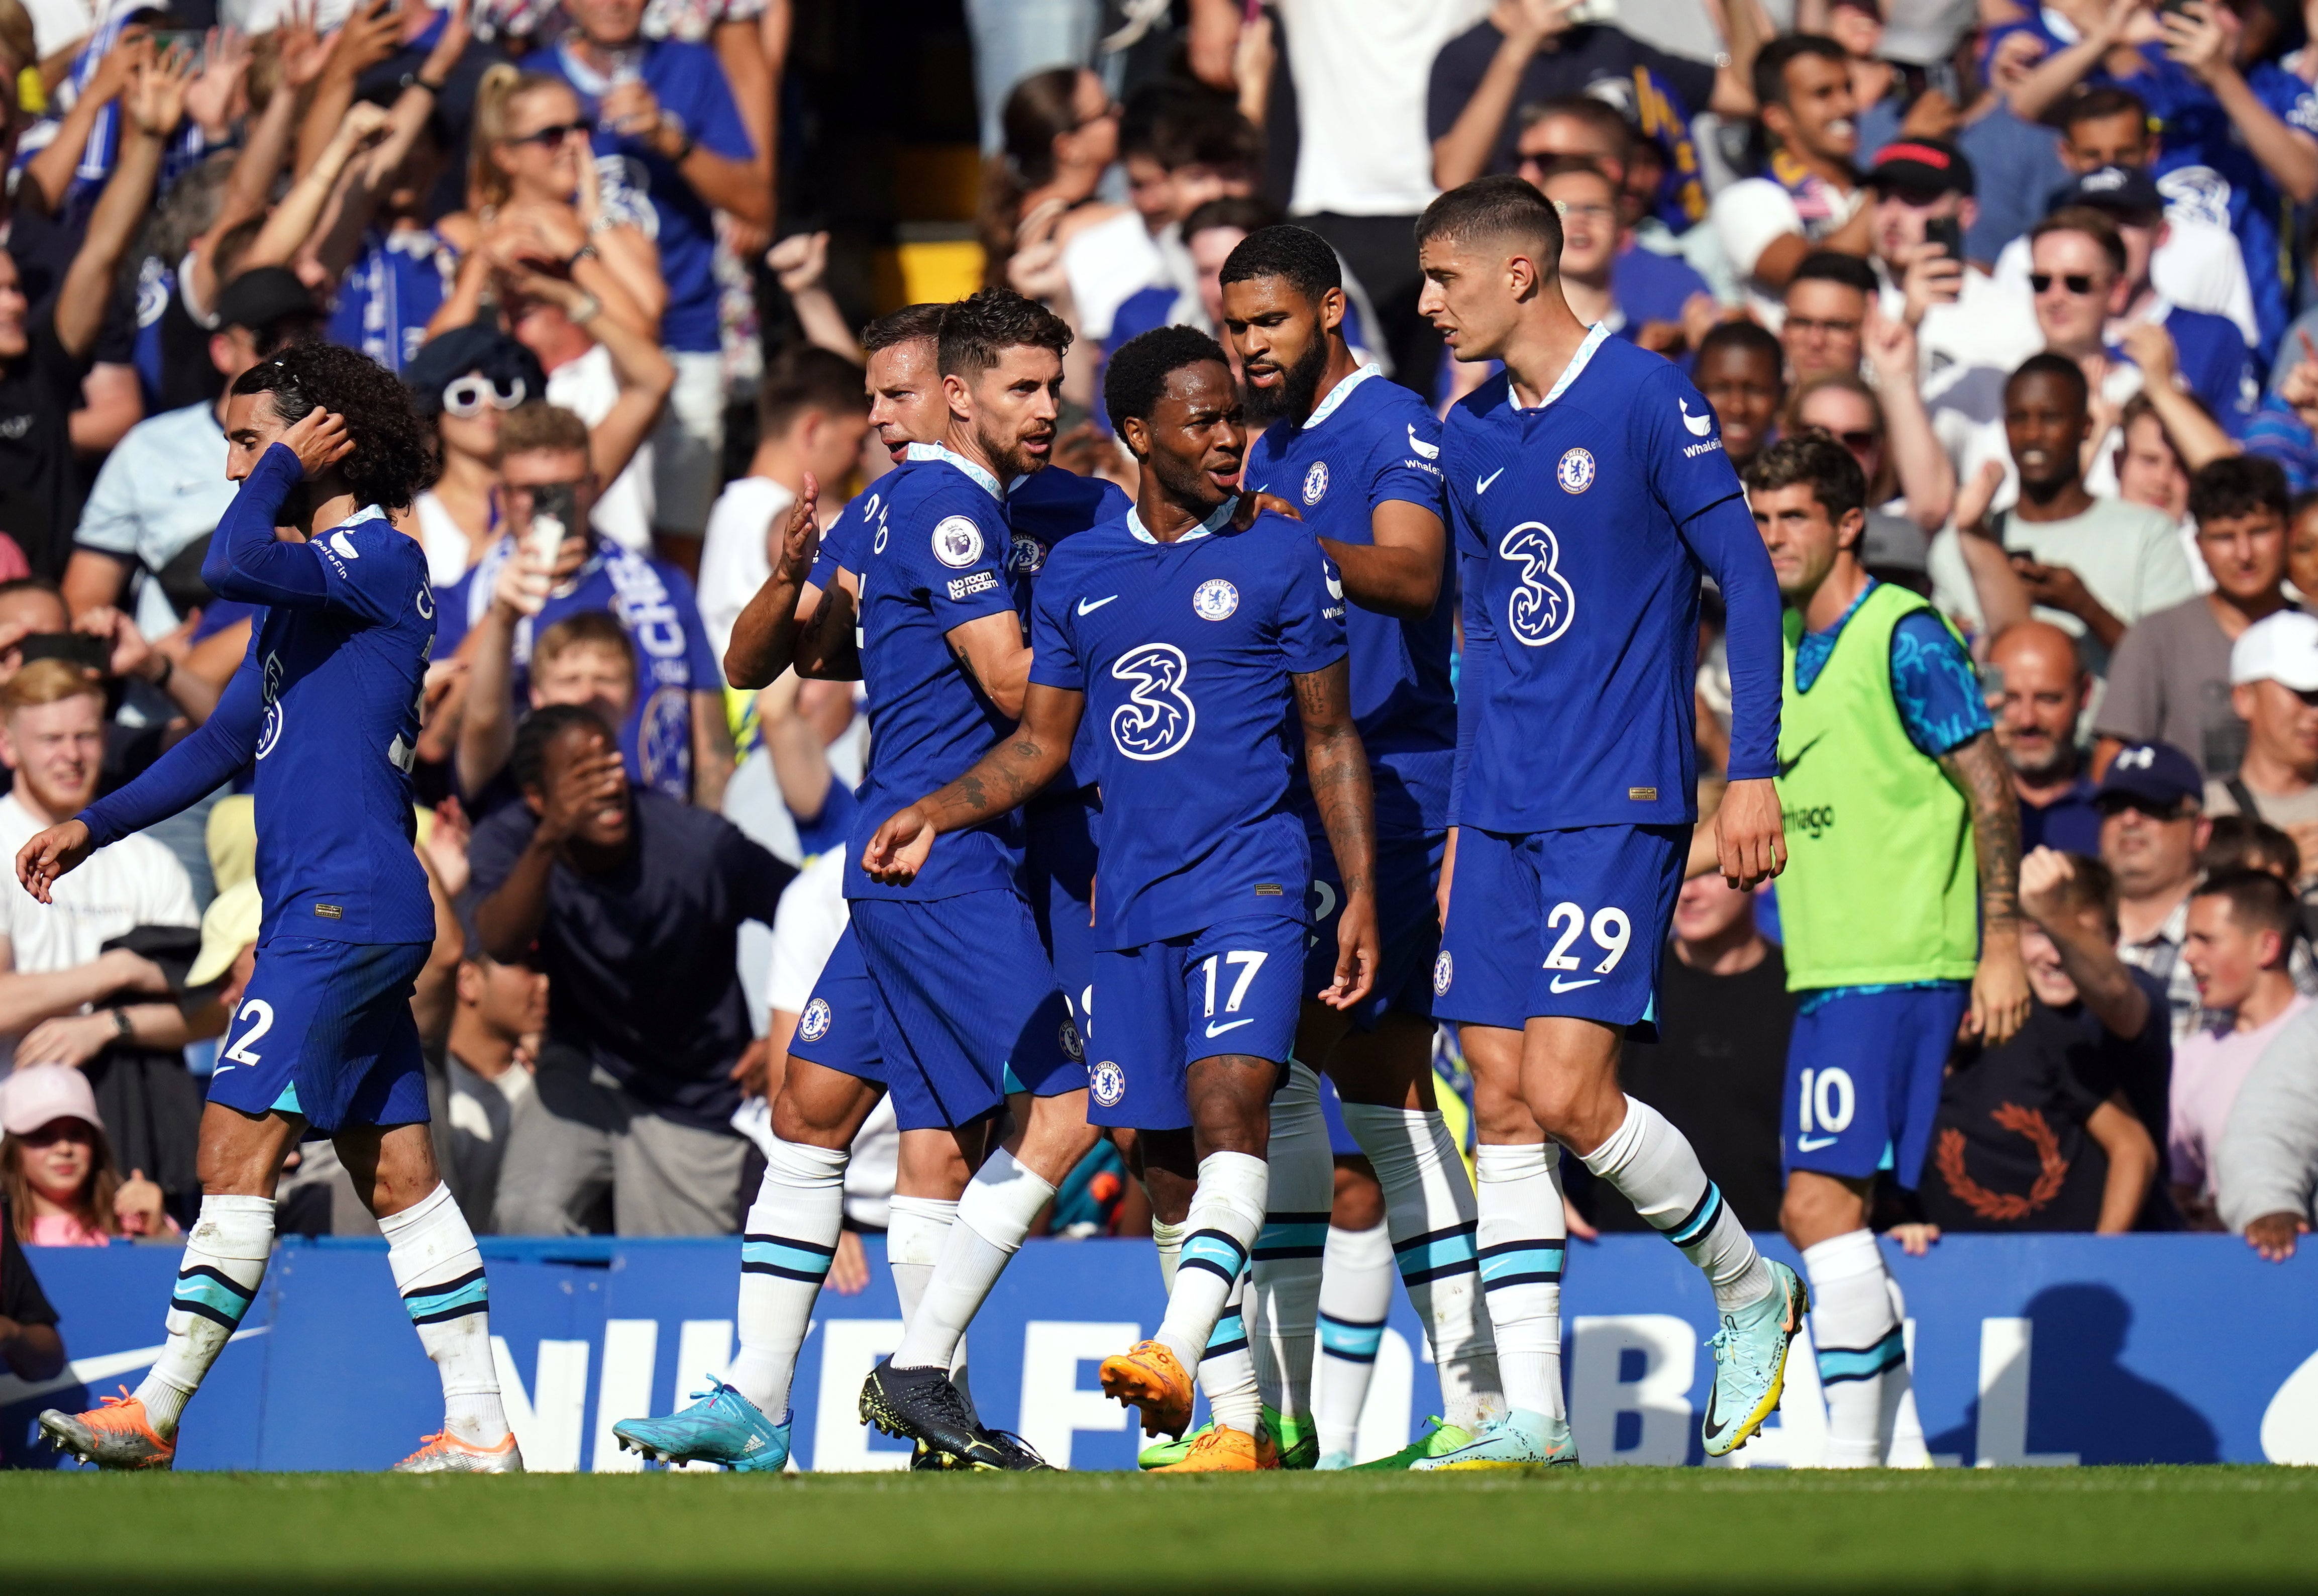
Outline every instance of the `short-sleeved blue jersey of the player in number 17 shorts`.
[(1305, 912), (1289, 677), (1344, 656), (1344, 594), (1310, 531), (1233, 531), (1231, 510), (1175, 543), (1122, 515), (1038, 580), (1029, 680), (1083, 691), (1094, 731), (1078, 747), (1103, 789), (1101, 946)]

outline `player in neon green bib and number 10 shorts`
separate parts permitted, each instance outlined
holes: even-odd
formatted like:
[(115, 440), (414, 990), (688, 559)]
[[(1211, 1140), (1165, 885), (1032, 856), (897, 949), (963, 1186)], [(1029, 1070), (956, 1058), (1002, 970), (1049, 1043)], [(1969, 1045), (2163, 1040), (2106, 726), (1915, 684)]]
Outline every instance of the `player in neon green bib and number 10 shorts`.
[(1963, 643), (1859, 564), (1850, 450), (1806, 431), (1750, 459), (1745, 485), (1787, 601), (1778, 909), (1801, 1004), (1778, 1223), (1810, 1274), (1827, 1464), (1873, 1468), (1908, 1350), (1868, 1192), (1880, 1169), (1915, 1188), (1959, 1025), (1998, 1046), (2028, 1021), (2019, 800)]

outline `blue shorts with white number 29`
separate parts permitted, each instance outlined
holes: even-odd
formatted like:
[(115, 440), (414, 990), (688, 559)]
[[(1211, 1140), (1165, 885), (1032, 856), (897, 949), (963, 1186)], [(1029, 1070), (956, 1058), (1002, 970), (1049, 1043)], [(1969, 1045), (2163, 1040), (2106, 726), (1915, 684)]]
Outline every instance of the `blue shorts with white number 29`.
[(1521, 1030), (1535, 1016), (1657, 1039), (1657, 960), (1690, 826), (1458, 830), (1433, 1011)]

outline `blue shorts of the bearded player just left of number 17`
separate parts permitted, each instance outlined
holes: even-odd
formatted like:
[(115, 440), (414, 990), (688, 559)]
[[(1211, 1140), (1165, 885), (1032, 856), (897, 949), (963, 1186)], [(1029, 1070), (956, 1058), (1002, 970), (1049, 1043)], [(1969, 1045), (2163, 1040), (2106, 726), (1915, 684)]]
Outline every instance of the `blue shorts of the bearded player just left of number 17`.
[(1059, 1097), (1085, 1088), (1078, 1028), (1020, 893), (855, 898), (851, 907), (902, 1130), (969, 1125), (1008, 1090)]

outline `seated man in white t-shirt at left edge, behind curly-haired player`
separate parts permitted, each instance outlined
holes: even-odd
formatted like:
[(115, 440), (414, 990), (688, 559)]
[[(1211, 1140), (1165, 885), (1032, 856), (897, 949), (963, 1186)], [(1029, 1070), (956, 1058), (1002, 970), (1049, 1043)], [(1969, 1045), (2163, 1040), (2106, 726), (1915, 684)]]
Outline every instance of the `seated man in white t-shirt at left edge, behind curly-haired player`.
[[(16, 670), (0, 687), (0, 761), (14, 772), (0, 798), (0, 847), (14, 856), (97, 796), (104, 689), (60, 659)], [(56, 902), (0, 893), (0, 1062), (86, 1065), (123, 1042), (165, 1051), (218, 1035), (225, 1016), (188, 1023), (160, 965), (104, 951), (139, 926), (199, 923), (185, 865), (146, 835), (97, 849), (58, 884)]]

